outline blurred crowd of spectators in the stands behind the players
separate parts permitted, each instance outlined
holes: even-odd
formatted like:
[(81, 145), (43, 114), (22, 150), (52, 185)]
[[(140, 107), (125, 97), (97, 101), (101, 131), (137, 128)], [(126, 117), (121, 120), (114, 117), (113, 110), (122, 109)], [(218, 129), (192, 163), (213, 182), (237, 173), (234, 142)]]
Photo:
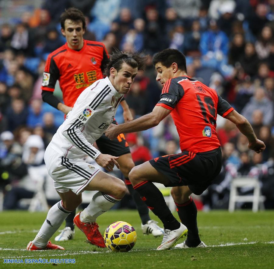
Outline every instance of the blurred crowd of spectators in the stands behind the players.
[[(24, 5), (9, 2), (10, 9)], [(234, 124), (217, 119), (223, 169), (202, 195), (205, 208), (228, 207), (230, 182), (237, 175), (258, 177), (265, 207), (274, 208), (274, 0), (41, 2), (38, 9), (28, 5), (20, 17), (0, 21), (0, 192), (5, 209), (18, 208), (19, 199), (33, 196), (30, 170), (44, 167), (44, 149), (64, 120), (43, 103), (40, 86), (48, 54), (65, 43), (59, 17), (72, 6), (86, 16), (85, 39), (103, 42), (109, 53), (118, 48), (148, 56), (146, 71), (139, 72), (125, 97), (135, 118), (152, 111), (159, 100), (153, 54), (175, 48), (187, 58), (188, 76), (214, 88), (265, 142), (264, 152), (252, 153)], [(58, 84), (54, 94), (62, 98)], [(121, 107), (116, 120), (123, 122)], [(171, 117), (126, 138), (135, 164), (180, 152)]]

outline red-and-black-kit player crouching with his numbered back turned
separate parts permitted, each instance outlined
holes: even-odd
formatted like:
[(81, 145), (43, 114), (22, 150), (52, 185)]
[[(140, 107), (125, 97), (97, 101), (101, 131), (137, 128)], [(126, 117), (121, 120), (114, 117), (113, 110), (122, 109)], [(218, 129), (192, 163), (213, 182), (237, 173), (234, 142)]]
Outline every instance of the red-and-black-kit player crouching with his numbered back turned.
[[(163, 85), (153, 111), (134, 121), (114, 126), (106, 135), (136, 132), (154, 127), (171, 114), (180, 137), (181, 153), (155, 158), (136, 166), (129, 173), (133, 188), (164, 224), (165, 234), (157, 250), (171, 248), (188, 232), (177, 248), (206, 247), (198, 235), (197, 208), (191, 194), (200, 195), (221, 170), (221, 149), (216, 133), (217, 114), (236, 124), (248, 138), (248, 147), (259, 153), (265, 149), (245, 117), (237, 113), (214, 89), (187, 76), (185, 56), (176, 49), (165, 49), (153, 57), (156, 80)], [(152, 182), (173, 187), (179, 223), (167, 207), (162, 193)]]

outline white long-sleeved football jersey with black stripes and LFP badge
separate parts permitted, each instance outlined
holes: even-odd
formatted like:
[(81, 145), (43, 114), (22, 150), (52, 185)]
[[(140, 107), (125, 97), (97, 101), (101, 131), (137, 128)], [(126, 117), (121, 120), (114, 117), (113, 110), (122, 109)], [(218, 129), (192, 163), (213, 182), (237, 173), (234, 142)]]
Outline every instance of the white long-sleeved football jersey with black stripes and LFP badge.
[(108, 77), (95, 81), (79, 95), (48, 146), (68, 159), (97, 158), (100, 151), (92, 144), (114, 120), (123, 96)]

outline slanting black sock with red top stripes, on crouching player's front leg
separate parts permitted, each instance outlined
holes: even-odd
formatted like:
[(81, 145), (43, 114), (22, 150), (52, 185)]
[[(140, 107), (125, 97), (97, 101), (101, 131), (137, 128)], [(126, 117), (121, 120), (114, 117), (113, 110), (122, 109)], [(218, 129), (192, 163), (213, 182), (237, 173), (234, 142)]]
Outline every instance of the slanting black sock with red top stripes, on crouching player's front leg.
[(133, 189), (139, 192), (148, 208), (163, 222), (164, 229), (176, 230), (180, 227), (180, 223), (170, 212), (163, 194), (152, 182), (142, 181)]

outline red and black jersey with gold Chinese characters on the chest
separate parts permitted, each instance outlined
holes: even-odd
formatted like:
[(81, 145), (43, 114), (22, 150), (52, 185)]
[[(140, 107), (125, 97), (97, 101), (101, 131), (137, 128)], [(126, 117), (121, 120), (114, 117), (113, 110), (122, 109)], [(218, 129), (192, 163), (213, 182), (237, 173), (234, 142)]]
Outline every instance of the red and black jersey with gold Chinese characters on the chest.
[(108, 60), (109, 55), (101, 42), (84, 40), (80, 50), (70, 49), (65, 43), (47, 57), (41, 88), (53, 92), (59, 80), (65, 105), (73, 107), (86, 87), (103, 78)]

